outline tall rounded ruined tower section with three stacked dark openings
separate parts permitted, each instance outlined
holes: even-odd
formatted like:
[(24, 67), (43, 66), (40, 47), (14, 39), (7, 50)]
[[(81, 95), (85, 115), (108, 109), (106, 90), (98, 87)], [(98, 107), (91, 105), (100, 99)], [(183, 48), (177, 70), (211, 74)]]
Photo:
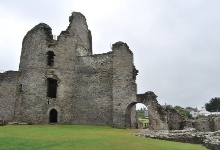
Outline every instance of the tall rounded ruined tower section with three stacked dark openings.
[[(67, 30), (61, 32), (57, 41), (44, 23), (31, 29), (22, 44), (18, 84), (22, 84), (23, 89), (18, 94), (16, 120), (47, 124), (50, 111), (55, 109), (58, 123), (73, 123), (77, 57), (91, 55), (91, 48), (91, 32), (81, 13), (72, 13)], [(48, 52), (54, 54), (52, 66), (47, 62)], [(57, 81), (55, 98), (47, 95), (48, 79)]]

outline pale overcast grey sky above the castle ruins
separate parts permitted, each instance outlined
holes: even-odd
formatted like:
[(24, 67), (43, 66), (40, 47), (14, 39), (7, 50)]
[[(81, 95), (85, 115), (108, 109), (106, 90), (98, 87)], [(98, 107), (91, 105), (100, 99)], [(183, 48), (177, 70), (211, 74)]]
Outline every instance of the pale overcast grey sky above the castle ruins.
[(44, 22), (59, 35), (73, 11), (87, 18), (94, 54), (128, 44), (138, 93), (198, 108), (220, 97), (220, 0), (1, 0), (0, 72), (18, 70), (30, 29)]

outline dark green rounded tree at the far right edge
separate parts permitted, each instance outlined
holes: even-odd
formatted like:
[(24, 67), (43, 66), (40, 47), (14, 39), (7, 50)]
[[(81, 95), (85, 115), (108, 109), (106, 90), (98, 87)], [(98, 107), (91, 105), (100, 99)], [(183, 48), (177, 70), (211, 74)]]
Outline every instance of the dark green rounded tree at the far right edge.
[(220, 97), (212, 98), (209, 103), (205, 104), (205, 108), (210, 112), (219, 112), (220, 111)]

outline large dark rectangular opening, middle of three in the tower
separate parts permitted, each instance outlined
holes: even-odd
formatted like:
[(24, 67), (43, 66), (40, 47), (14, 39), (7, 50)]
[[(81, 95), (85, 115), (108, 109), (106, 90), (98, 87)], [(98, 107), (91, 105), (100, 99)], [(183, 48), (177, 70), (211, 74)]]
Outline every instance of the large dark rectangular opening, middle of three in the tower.
[(57, 96), (57, 80), (47, 79), (47, 97), (56, 98)]

